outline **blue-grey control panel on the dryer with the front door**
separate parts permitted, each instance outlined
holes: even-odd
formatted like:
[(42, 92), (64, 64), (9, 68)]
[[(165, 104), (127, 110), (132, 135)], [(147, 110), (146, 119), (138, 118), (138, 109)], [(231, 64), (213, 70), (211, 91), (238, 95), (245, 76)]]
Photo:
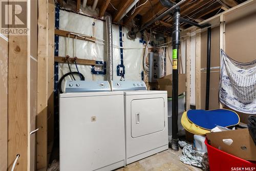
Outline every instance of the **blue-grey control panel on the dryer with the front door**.
[(144, 81), (111, 81), (112, 91), (147, 90)]

